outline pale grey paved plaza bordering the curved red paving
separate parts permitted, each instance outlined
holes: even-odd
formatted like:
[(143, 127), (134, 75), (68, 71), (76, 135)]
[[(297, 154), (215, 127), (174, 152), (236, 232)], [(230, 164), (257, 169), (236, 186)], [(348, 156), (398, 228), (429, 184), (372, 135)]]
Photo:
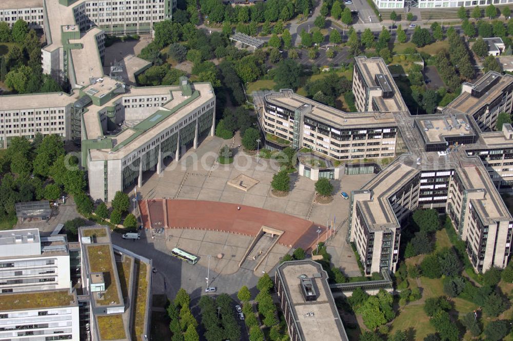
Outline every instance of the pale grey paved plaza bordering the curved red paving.
[[(137, 191), (140, 192), (139, 199), (192, 199), (247, 205), (289, 214), (323, 226), (334, 219), (335, 226), (341, 225), (341, 228), (337, 236), (330, 241), (329, 252), (333, 255), (332, 261), (336, 266), (341, 267), (347, 275), (359, 275), (354, 254), (350, 245), (345, 242), (350, 200), (344, 200), (340, 196), (340, 192), (350, 193), (352, 190), (360, 188), (374, 175), (342, 175), (341, 179), (332, 180), (336, 195), (330, 204), (322, 205), (313, 203), (315, 182), (292, 174), (291, 192), (284, 198), (277, 198), (271, 194), (270, 188), (272, 176), (277, 169), (273, 168), (273, 162), (260, 159), (257, 163), (255, 157), (244, 154), (238, 147), (239, 143), (239, 139), (222, 140), (217, 137), (207, 137), (198, 149), (188, 151), (179, 162), (166, 163), (166, 167), (160, 175), (151, 171), (145, 173), (143, 186), (137, 188)], [(215, 162), (219, 149), (225, 144), (233, 148), (234, 162), (230, 165), (220, 165)], [(247, 192), (227, 184), (229, 180), (240, 174), (254, 178), (259, 183)], [(191, 202), (191, 205), (194, 209), (202, 209), (199, 203)], [(176, 235), (173, 230), (168, 233)], [(195, 233), (206, 233), (206, 231), (196, 231)], [(221, 232), (212, 233), (224, 235)], [(185, 236), (187, 235), (186, 233)], [(203, 240), (203, 237), (196, 236), (194, 238)], [(186, 243), (185, 239), (183, 243)], [(225, 247), (228, 248), (228, 245)], [(276, 252), (276, 255), (266, 258), (263, 263), (266, 267), (272, 268), (279, 261), (280, 254), (286, 252), (286, 250), (277, 252), (276, 247), (273, 251)], [(200, 253), (203, 251), (200, 250)], [(232, 254), (236, 255), (237, 253), (233, 252)], [(231, 262), (226, 259), (223, 262), (226, 264), (220, 264), (219, 269), (226, 269), (227, 272), (230, 272)]]

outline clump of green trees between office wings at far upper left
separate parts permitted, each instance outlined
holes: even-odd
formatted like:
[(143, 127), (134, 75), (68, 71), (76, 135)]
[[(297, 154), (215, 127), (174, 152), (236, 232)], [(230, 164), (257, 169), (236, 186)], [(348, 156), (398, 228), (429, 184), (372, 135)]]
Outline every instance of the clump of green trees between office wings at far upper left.
[(16, 44), (0, 56), (0, 81), (17, 93), (62, 91), (55, 80), (43, 74), (39, 37), (25, 21), (17, 20), (12, 30), (6, 22), (0, 23), (0, 43), (6, 42)]

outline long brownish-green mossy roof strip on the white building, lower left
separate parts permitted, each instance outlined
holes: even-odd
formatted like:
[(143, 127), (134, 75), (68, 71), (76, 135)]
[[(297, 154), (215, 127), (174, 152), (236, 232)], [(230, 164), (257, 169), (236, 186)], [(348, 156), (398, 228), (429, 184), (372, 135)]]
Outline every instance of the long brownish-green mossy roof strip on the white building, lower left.
[(69, 290), (45, 290), (0, 294), (0, 311), (33, 310), (42, 308), (73, 307), (78, 302)]

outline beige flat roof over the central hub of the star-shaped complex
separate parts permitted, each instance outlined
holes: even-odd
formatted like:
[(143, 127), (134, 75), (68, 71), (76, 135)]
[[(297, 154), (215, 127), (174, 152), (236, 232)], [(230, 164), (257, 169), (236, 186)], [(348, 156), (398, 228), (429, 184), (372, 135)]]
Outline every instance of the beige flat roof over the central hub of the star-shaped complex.
[(474, 132), (463, 115), (457, 117), (429, 117), (417, 119), (425, 142), (444, 142), (450, 136), (474, 136)]

